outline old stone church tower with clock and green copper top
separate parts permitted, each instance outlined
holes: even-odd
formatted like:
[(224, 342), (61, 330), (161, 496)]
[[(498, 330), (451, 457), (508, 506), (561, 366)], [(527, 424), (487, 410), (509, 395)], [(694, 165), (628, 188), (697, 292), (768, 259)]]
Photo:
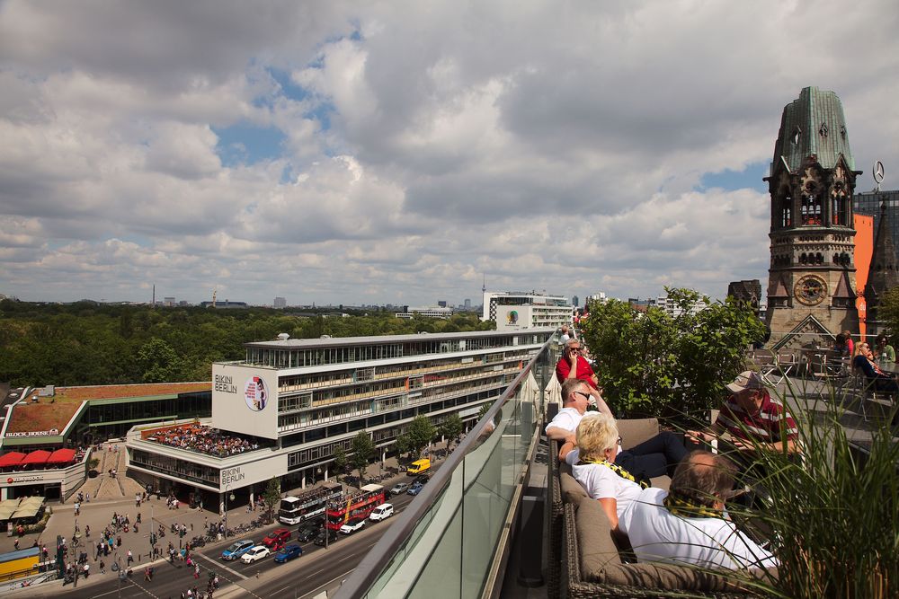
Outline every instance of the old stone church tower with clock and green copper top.
[(806, 87), (784, 107), (768, 181), (772, 348), (830, 345), (859, 332), (855, 307), (855, 164), (840, 98)]

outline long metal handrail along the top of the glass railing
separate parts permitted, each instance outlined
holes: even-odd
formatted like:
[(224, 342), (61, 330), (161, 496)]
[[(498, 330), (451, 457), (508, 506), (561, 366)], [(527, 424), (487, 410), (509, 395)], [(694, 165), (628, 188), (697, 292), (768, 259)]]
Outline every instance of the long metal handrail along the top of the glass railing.
[(494, 402), (490, 410), (487, 410), (484, 417), (477, 421), (475, 427), (462, 440), (462, 443), (458, 445), (452, 454), (449, 454), (447, 461), (434, 473), (432, 480), (424, 486), (418, 497), (403, 510), (402, 515), (387, 529), (387, 533), (384, 533), (380, 540), (371, 547), (366, 556), (359, 562), (359, 565), (353, 570), (350, 577), (343, 582), (337, 591), (337, 595), (334, 595), (335, 599), (355, 599), (368, 592), (368, 589), (378, 579), (381, 572), (394, 559), (396, 552), (409, 539), (423, 516), (432, 508), (434, 500), (439, 498), (441, 493), (449, 487), (453, 473), (465, 457), (485, 443), (488, 438), (484, 434), (487, 423), (493, 422), (497, 414), (503, 410), (503, 406), (512, 398), (524, 378), (538, 365), (543, 353), (556, 343), (555, 339), (555, 335), (550, 336), (534, 357), (530, 359), (528, 365), (522, 368), (518, 376), (509, 384), (503, 395)]

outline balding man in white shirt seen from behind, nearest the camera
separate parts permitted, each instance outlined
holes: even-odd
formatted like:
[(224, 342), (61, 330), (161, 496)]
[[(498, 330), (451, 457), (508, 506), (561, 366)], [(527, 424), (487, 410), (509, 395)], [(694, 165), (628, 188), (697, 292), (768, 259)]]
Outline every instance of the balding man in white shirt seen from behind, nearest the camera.
[(770, 552), (737, 530), (725, 512), (734, 464), (696, 451), (674, 472), (671, 491), (644, 489), (619, 518), (637, 561), (701, 568), (770, 568)]

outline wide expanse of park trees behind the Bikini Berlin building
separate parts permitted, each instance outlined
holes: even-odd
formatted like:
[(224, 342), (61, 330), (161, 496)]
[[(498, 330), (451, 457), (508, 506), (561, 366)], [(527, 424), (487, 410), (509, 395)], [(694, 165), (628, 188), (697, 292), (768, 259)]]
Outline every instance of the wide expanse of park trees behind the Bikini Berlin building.
[(0, 381), (13, 386), (208, 381), (213, 362), (244, 357), (248, 341), (322, 335), (487, 330), (475, 313), (399, 319), (372, 309), (348, 317), (271, 308), (0, 302)]

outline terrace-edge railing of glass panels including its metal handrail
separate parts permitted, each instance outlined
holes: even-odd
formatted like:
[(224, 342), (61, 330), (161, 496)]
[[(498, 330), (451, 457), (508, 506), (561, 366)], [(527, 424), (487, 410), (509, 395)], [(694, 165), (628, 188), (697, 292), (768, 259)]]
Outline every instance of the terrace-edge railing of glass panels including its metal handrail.
[(477, 597), (501, 575), (539, 441), (553, 336), (369, 551), (337, 597)]

